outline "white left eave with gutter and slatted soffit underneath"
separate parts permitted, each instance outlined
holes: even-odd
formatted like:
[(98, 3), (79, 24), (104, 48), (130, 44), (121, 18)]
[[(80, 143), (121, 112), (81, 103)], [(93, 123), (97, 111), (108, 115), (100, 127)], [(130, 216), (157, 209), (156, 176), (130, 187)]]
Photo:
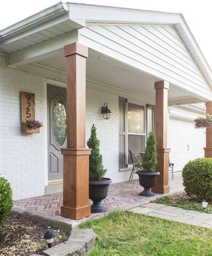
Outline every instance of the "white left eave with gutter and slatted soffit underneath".
[(58, 3), (0, 31), (0, 49), (13, 53), (85, 26), (70, 19), (68, 4)]

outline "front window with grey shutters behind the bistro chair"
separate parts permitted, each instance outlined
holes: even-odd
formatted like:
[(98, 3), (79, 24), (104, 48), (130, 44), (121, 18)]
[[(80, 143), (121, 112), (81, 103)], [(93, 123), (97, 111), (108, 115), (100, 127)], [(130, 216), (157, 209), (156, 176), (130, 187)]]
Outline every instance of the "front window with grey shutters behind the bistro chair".
[(131, 165), (129, 149), (144, 152), (146, 134), (153, 130), (154, 106), (119, 98), (119, 168)]

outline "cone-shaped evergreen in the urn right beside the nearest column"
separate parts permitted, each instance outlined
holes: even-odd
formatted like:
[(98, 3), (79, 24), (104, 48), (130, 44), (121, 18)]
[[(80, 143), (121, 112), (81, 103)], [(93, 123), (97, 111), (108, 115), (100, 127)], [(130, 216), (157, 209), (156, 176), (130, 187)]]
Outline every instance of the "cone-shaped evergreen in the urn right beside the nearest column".
[(99, 145), (100, 141), (97, 138), (97, 128), (92, 126), (91, 135), (87, 141), (87, 145), (91, 150), (89, 155), (89, 180), (99, 181), (106, 174), (107, 169), (104, 169), (102, 164), (102, 154), (100, 154)]

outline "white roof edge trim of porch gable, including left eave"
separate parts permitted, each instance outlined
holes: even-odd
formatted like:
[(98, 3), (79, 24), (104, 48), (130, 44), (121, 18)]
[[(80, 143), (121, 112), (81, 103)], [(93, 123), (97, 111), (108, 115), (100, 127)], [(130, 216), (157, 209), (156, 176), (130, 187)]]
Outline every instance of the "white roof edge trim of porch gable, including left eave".
[(20, 66), (25, 63), (13, 59), (15, 52), (85, 27), (86, 23), (173, 25), (212, 86), (211, 68), (181, 13), (60, 2), (1, 30), (0, 52), (9, 55), (10, 65)]

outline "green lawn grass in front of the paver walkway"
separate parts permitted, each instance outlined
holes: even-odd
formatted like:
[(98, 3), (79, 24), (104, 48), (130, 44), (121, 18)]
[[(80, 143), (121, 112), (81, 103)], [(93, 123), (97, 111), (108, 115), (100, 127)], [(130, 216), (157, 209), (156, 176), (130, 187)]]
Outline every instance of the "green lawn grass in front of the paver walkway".
[(211, 255), (212, 230), (133, 212), (116, 211), (80, 225), (97, 235), (90, 256)]

